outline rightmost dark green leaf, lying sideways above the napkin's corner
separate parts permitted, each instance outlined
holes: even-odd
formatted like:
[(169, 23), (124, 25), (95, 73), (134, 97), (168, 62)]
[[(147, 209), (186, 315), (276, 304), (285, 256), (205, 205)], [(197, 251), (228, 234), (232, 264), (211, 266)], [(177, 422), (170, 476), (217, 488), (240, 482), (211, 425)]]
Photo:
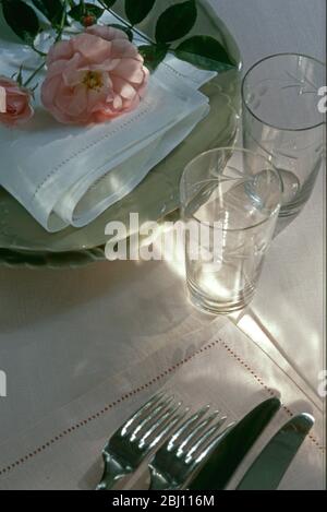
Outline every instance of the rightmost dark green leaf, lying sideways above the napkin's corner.
[(223, 46), (210, 36), (190, 37), (177, 47), (174, 53), (181, 60), (210, 71), (227, 71), (237, 66)]

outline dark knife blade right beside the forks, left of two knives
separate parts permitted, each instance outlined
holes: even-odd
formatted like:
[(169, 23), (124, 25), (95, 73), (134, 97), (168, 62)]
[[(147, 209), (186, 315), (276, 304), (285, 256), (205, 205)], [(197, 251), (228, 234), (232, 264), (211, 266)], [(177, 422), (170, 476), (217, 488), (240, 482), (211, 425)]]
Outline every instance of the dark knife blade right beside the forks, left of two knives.
[(241, 419), (217, 444), (206, 464), (187, 485), (187, 489), (223, 489), (280, 406), (279, 398), (269, 398)]

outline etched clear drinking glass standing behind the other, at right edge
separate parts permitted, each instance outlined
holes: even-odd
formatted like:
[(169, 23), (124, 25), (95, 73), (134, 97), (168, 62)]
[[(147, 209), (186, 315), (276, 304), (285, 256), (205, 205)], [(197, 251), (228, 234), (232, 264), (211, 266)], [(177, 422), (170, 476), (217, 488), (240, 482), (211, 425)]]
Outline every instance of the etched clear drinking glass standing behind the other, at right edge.
[(243, 80), (243, 144), (279, 169), (282, 217), (301, 211), (322, 168), (326, 123), (319, 94), (325, 81), (325, 64), (298, 53), (267, 57)]

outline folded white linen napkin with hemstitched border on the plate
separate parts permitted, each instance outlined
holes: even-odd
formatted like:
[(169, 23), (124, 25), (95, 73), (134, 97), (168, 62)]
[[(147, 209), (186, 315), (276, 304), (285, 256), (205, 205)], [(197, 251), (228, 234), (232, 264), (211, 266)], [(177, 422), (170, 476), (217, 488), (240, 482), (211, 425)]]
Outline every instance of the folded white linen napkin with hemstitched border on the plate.
[[(1, 40), (0, 74), (33, 56)], [(29, 59), (29, 61), (28, 61)], [(169, 56), (140, 107), (92, 127), (59, 124), (40, 104), (20, 128), (0, 126), (0, 184), (48, 231), (82, 227), (129, 194), (208, 114), (198, 88), (215, 73)]]

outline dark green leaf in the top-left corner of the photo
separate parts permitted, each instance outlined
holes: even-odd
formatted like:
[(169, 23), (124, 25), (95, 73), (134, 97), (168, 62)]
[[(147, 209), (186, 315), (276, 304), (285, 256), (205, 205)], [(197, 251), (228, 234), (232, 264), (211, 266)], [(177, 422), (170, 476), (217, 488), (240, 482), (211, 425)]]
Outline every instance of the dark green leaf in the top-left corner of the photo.
[(33, 44), (40, 26), (34, 10), (21, 0), (2, 0), (4, 20), (27, 45)]

